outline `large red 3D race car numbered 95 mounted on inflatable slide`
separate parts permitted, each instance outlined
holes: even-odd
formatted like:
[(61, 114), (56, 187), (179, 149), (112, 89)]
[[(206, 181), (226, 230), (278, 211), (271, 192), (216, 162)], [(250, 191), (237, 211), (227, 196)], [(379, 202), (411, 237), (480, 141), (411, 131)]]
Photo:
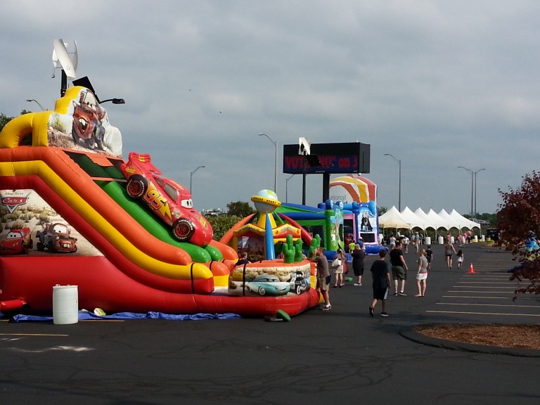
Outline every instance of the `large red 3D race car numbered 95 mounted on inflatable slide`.
[(127, 163), (120, 166), (127, 179), (129, 197), (141, 199), (167, 225), (180, 242), (205, 247), (214, 235), (212, 226), (193, 208), (191, 193), (161, 172), (150, 162), (150, 155), (129, 153)]

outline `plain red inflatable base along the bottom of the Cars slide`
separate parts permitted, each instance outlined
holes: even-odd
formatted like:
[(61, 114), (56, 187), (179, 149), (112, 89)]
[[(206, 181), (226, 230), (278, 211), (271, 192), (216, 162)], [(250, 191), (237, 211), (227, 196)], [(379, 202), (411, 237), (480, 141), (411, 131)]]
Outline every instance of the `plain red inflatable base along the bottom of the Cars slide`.
[(293, 316), (319, 302), (313, 288), (283, 297), (170, 293), (134, 281), (101, 256), (0, 258), (0, 302), (23, 300), (30, 311), (52, 311), (53, 286), (57, 284), (77, 285), (79, 309), (101, 308), (108, 313), (274, 316), (281, 309)]

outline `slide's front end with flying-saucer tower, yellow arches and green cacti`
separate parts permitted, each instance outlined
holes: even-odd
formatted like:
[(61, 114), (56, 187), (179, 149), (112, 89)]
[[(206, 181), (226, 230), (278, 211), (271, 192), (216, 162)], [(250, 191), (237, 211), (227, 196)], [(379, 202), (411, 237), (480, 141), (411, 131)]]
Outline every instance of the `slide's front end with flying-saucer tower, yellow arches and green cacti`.
[(295, 221), (276, 213), (281, 202), (273, 191), (259, 191), (251, 200), (257, 212), (238, 222), (220, 240), (248, 258), (231, 272), (229, 295), (290, 294), (309, 297), (311, 304), (316, 304), (315, 266), (304, 259), (303, 245), (309, 245), (309, 256), (321, 245), (320, 238), (311, 238)]

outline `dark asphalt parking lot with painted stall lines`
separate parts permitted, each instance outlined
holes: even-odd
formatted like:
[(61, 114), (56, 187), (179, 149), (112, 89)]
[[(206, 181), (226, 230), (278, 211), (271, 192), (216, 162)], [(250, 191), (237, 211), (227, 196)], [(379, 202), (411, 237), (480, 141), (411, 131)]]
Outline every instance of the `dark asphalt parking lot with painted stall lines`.
[[(538, 297), (513, 301), (508, 254), (464, 249), (458, 271), (444, 268), (435, 245), (426, 297), (413, 297), (410, 277), (409, 296), (392, 295), (387, 318), (368, 314), (366, 270), (361, 287), (330, 290), (330, 311), (310, 309), (290, 322), (2, 321), (0, 402), (539, 404), (540, 351), (449, 349), (404, 337), (423, 323), (539, 322)], [(411, 269), (416, 257), (406, 254)]]

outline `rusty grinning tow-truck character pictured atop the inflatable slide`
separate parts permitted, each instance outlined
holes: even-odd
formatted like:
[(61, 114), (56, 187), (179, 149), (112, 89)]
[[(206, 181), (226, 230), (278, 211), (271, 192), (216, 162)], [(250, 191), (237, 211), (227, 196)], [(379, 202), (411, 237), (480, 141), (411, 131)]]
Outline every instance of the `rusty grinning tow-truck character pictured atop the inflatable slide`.
[(86, 148), (103, 149), (103, 117), (105, 110), (99, 105), (96, 96), (91, 91), (82, 91), (79, 103), (73, 101), (71, 136), (75, 145), (82, 139)]

